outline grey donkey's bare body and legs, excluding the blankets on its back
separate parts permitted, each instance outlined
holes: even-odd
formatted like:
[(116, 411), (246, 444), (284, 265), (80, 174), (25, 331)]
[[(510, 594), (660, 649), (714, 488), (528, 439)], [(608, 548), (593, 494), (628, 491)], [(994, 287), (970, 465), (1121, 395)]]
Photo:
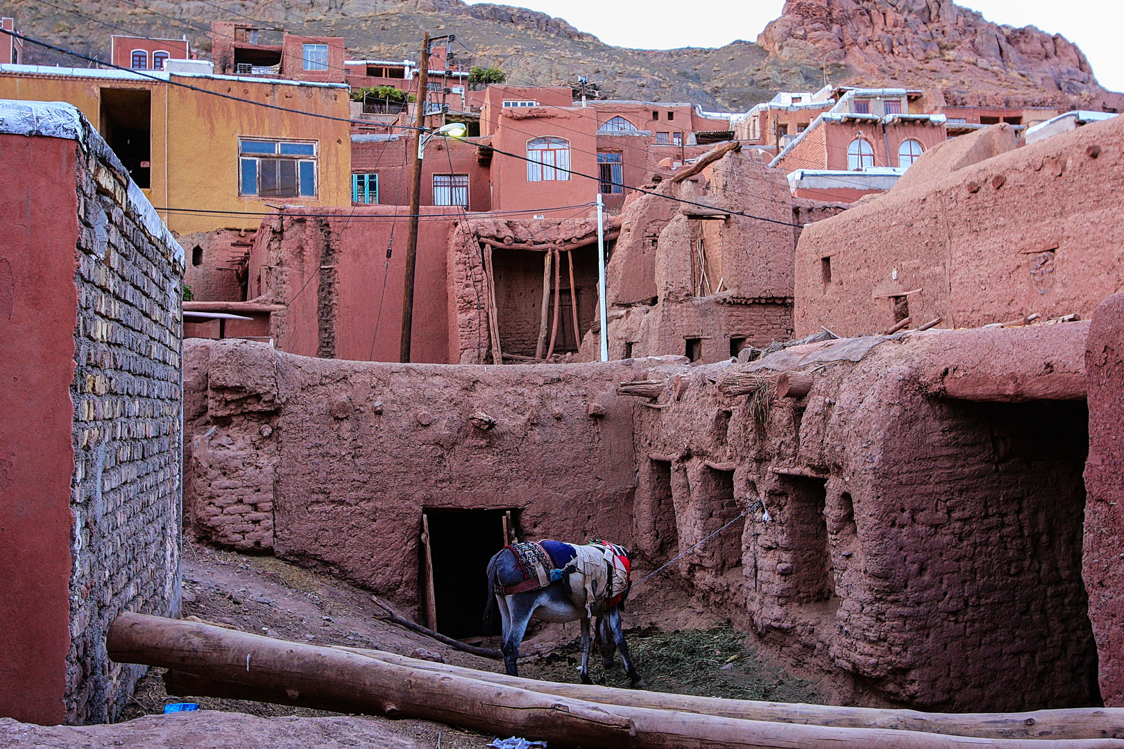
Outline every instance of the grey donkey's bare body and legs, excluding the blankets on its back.
[[(546, 541), (549, 544), (549, 541)], [(555, 541), (556, 544), (556, 541)], [(560, 545), (571, 546), (571, 545)], [(572, 554), (572, 552), (571, 552)], [(581, 573), (574, 573), (581, 576)], [(508, 675), (518, 676), (517, 659), (519, 658), (519, 643), (527, 631), (527, 624), (532, 619), (540, 621), (556, 622), (564, 624), (572, 621), (581, 621), (581, 682), (592, 684), (589, 678), (589, 649), (590, 649), (590, 616), (584, 606), (574, 604), (569, 595), (569, 576), (563, 575), (561, 579), (552, 582), (546, 587), (534, 591), (501, 594), (500, 591), (516, 586), (525, 581), (519, 563), (510, 547), (504, 547), (488, 563), (488, 603), (484, 606), (484, 631), (490, 632), (492, 616), (498, 606), (502, 623), (502, 637), (500, 651), (504, 654), (504, 666)], [(578, 587), (577, 585), (574, 587)], [(620, 600), (613, 606), (596, 614), (596, 624), (592, 624), (596, 647), (601, 655), (601, 665), (605, 668), (614, 666), (614, 652), (620, 650), (620, 659), (625, 664), (625, 674), (632, 682), (633, 687), (644, 688), (646, 684), (636, 673), (632, 654), (625, 642), (625, 632), (620, 623), (620, 610), (624, 608), (624, 600), (627, 591)]]

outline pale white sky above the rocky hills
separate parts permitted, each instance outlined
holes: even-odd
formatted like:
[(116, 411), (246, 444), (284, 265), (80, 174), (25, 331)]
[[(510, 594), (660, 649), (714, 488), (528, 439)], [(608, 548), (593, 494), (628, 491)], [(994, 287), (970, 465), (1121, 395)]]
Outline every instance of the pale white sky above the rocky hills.
[[(473, 0), (469, 0), (471, 3)], [(734, 39), (753, 42), (780, 16), (783, 0), (710, 0), (700, 12), (676, 12), (668, 0), (501, 0), (564, 18), (606, 44), (643, 49), (720, 47)], [(1085, 52), (1100, 84), (1124, 91), (1124, 27), (1121, 0), (960, 0), (996, 24), (1037, 26), (1061, 34)], [(689, 7), (689, 6), (687, 6)]]

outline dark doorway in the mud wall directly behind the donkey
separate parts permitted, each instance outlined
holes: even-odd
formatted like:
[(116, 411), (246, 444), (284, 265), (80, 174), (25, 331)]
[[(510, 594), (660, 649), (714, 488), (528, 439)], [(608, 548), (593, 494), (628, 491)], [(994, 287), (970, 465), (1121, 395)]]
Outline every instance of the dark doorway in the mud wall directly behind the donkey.
[(506, 513), (505, 510), (426, 510), (434, 609), (437, 631), (442, 634), (463, 639), (499, 633), (499, 614), (493, 632), (483, 631), (483, 615), (488, 602), (488, 561), (505, 546)]

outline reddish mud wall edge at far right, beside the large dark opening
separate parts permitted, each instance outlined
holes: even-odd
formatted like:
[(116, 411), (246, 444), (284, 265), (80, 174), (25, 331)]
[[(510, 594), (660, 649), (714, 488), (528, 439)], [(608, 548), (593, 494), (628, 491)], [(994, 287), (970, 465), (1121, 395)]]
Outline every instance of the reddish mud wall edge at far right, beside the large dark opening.
[(1089, 460), (1085, 466), (1085, 586), (1100, 656), (1105, 705), (1124, 706), (1124, 294), (1097, 307), (1086, 347)]

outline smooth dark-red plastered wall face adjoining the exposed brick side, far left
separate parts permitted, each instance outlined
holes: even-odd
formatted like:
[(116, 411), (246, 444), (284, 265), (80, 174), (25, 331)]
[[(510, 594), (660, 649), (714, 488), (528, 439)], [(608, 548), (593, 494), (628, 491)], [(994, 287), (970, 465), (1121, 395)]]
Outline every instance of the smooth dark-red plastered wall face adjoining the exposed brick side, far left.
[(0, 135), (0, 715), (65, 719), (75, 144)]

